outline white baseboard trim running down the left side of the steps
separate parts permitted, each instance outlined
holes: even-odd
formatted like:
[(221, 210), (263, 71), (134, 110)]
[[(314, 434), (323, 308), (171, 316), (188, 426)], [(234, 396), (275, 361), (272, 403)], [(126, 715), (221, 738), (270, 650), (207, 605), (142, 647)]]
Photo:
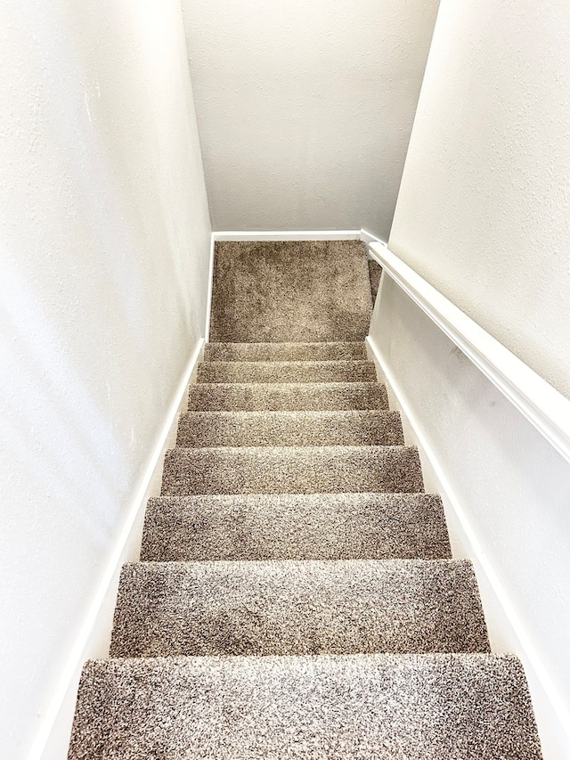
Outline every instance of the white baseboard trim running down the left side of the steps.
[(77, 642), (63, 667), (58, 686), (53, 691), (50, 706), (37, 731), (28, 760), (63, 760), (67, 757), (79, 676), (86, 659), (108, 657), (120, 569), (124, 562), (138, 560), (140, 557), (142, 520), (146, 503), (150, 496), (159, 494), (164, 456), (167, 448), (175, 443), (178, 415), (187, 404), (187, 389), (203, 347), (204, 340), (199, 339), (198, 345), (186, 364), (183, 377), (168, 408), (166, 420), (127, 512), (123, 528), (118, 535), (94, 600), (77, 636)]

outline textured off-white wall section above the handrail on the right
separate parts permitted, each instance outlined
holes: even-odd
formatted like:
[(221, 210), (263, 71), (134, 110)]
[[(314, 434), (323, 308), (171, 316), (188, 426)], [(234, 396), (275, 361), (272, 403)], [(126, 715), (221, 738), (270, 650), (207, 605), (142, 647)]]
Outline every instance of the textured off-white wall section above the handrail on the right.
[(570, 4), (442, 0), (390, 248), (570, 396)]

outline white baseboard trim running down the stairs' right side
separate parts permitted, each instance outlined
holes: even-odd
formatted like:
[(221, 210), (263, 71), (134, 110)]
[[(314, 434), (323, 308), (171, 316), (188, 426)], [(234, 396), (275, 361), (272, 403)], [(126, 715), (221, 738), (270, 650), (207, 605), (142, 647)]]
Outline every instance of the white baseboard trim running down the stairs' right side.
[[(445, 474), (442, 463), (439, 462), (436, 451), (423, 433), (415, 413), (406, 402), (403, 388), (401, 388), (395, 379), (387, 361), (379, 351), (379, 347), (370, 336), (366, 339), (366, 344), (370, 348), (371, 358), (377, 364), (379, 374), (383, 376), (386, 382), (388, 396), (392, 396), (392, 399), (395, 401), (394, 404), (391, 404), (391, 407), (402, 413), (404, 431), (411, 433), (411, 435), (406, 436), (411, 438), (406, 443), (418, 446), (427, 490), (441, 495), (446, 514), (450, 515), (454, 525), (460, 531), (461, 535), (456, 535), (455, 537), (457, 543), (462, 544), (465, 548), (465, 552), (461, 552), (461, 554), (473, 561), (484, 609), (487, 609), (487, 606), (493, 607), (494, 617), (498, 621), (496, 627), (501, 628), (500, 631), (493, 631), (492, 621), (487, 620), (492, 646), (495, 642), (501, 642), (498, 646), (493, 646), (493, 650), (512, 651), (521, 659), (525, 666), (529, 686), (531, 687), (533, 705), (539, 722), (542, 741), (544, 742), (547, 732), (551, 736), (556, 734), (558, 737), (556, 748), (551, 749), (548, 755), (547, 748), (543, 746), (544, 757), (551, 757), (552, 760), (558, 758), (560, 756), (560, 747), (563, 745), (567, 751), (567, 754), (564, 756), (570, 757), (570, 711), (566, 706), (566, 702), (552, 683), (546, 667), (542, 664), (542, 659), (525, 631), (525, 625), (523, 625), (516, 610), (510, 604), (508, 594), (503, 588), (493, 565), (487, 560), (485, 551), (477, 539), (476, 532), (466, 512), (461, 507), (460, 500), (454, 493), (454, 488)], [(451, 535), (451, 538), (453, 546), (454, 536)], [(505, 648), (505, 643), (507, 644), (507, 649)], [(548, 715), (549, 711), (554, 716), (554, 721)], [(543, 722), (542, 726), (541, 718)], [(560, 737), (563, 737), (563, 739), (560, 740)], [(553, 740), (552, 745), (554, 743)]]

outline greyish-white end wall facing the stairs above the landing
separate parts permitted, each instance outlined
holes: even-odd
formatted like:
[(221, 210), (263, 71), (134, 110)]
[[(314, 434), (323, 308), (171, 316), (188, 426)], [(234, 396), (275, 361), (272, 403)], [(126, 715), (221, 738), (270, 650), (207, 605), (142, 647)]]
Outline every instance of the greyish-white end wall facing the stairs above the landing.
[(387, 240), (437, 0), (183, 0), (215, 230)]

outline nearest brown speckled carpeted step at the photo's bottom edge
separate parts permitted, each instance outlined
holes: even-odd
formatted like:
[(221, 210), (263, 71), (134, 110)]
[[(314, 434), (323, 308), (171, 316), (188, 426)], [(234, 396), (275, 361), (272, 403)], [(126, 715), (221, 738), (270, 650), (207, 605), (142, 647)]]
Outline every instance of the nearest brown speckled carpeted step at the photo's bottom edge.
[(69, 760), (538, 760), (509, 655), (87, 662)]

